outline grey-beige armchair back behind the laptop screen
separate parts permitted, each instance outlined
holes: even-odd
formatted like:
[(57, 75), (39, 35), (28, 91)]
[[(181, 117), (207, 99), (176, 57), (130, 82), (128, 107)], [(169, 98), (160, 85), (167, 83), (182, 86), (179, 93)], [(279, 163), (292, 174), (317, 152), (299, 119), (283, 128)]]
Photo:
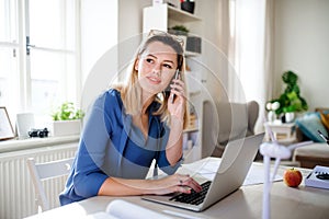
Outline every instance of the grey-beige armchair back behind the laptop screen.
[[(204, 107), (203, 131), (206, 134), (213, 131), (209, 124), (214, 123), (214, 119), (212, 116), (207, 116), (211, 115), (209, 111), (212, 110)], [(216, 112), (218, 114), (218, 132), (215, 136), (217, 139), (216, 147), (211, 149), (211, 155), (220, 158), (229, 140), (254, 135), (254, 125), (259, 117), (259, 104), (256, 101), (218, 103)], [(207, 145), (206, 140), (203, 139), (203, 146)]]

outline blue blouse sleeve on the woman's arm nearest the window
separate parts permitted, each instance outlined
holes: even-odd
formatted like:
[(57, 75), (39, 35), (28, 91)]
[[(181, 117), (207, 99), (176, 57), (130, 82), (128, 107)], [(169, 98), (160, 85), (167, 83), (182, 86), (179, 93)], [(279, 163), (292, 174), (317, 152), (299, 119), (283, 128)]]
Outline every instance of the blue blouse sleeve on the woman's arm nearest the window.
[(98, 195), (100, 187), (109, 177), (101, 170), (113, 130), (111, 115), (105, 110), (105, 105), (111, 104), (107, 102), (109, 99), (104, 94), (92, 106), (77, 153), (75, 193), (84, 198)]

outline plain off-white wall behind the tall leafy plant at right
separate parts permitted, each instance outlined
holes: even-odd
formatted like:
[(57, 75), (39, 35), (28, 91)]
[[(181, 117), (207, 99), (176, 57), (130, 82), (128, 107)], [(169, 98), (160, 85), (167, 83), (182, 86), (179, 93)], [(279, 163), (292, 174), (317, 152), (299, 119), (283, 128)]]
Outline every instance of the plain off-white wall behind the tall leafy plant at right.
[(328, 21), (328, 0), (275, 0), (274, 94), (282, 92), (282, 73), (293, 70), (309, 111), (329, 106)]

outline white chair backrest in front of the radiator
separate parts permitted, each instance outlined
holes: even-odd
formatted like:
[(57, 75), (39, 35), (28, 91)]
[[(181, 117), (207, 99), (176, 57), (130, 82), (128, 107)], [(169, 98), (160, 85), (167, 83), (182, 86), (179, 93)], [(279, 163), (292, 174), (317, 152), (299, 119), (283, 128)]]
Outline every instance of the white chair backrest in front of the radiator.
[(35, 163), (33, 158), (29, 158), (26, 162), (35, 188), (37, 205), (42, 208), (42, 211), (48, 210), (50, 205), (42, 181), (68, 175), (73, 158), (45, 163)]

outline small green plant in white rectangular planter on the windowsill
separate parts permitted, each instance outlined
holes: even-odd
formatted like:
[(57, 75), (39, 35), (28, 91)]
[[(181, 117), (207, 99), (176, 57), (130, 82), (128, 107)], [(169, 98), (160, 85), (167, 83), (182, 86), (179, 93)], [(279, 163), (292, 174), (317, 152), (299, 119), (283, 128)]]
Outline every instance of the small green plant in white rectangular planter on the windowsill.
[(79, 135), (84, 113), (73, 103), (63, 103), (53, 114), (53, 136)]

